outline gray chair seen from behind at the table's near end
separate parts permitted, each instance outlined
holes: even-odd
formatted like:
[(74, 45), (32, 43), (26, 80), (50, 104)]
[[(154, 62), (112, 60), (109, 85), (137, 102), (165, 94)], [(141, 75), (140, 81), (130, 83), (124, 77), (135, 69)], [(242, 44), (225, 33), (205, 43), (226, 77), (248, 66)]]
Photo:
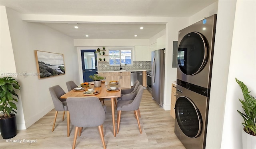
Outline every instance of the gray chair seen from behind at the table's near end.
[(71, 123), (76, 126), (73, 149), (76, 147), (76, 138), (82, 127), (98, 126), (101, 141), (106, 149), (103, 133), (103, 123), (106, 119), (106, 105), (100, 103), (98, 97), (69, 97), (67, 99)]

